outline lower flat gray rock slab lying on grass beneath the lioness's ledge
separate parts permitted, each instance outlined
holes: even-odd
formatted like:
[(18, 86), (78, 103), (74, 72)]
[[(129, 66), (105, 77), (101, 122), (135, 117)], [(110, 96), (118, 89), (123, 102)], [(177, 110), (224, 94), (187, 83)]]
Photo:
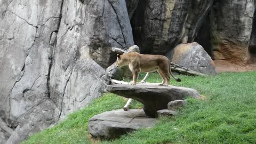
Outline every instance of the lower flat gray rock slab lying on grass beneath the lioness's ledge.
[(142, 109), (119, 109), (93, 116), (88, 129), (93, 137), (112, 139), (140, 128), (153, 127), (157, 122), (156, 118), (146, 117)]

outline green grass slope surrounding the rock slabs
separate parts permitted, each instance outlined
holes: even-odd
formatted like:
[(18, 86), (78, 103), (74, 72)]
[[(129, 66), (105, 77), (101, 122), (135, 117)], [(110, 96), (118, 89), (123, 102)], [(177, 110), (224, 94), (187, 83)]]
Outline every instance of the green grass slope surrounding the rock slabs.
[[(158, 118), (159, 123), (152, 129), (141, 129), (111, 141), (89, 139), (89, 118), (125, 105), (125, 99), (105, 93), (59, 125), (23, 143), (256, 143), (256, 72), (178, 77), (182, 82), (172, 80), (171, 85), (196, 89), (205, 99), (188, 99), (179, 116)], [(155, 73), (147, 80), (162, 82)], [(132, 108), (139, 107), (139, 102), (133, 102)]]

